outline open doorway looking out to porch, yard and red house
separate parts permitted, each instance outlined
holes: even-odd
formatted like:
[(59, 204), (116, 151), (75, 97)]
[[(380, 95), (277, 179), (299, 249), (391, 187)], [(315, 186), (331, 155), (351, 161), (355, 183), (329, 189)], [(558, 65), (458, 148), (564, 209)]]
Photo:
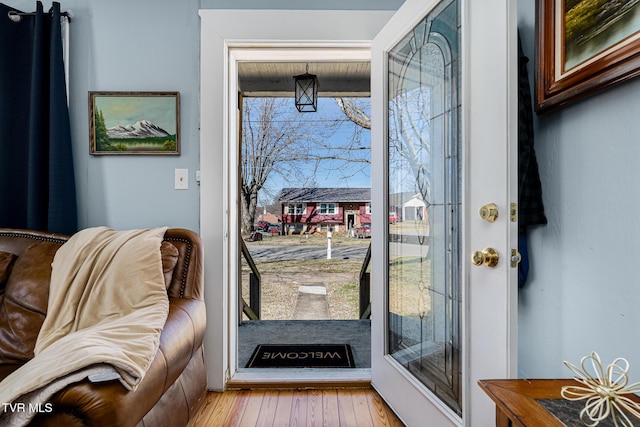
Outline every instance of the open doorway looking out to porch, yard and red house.
[[(305, 71), (312, 113), (294, 106)], [(239, 62), (238, 87), (239, 372), (261, 345), (310, 343), (369, 369), (369, 62)]]

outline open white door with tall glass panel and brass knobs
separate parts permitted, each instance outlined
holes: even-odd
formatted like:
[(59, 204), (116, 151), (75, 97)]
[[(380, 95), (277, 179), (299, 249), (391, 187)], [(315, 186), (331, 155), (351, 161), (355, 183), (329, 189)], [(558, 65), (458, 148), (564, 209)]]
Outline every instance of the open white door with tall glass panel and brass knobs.
[(372, 382), (410, 426), (490, 425), (477, 380), (515, 372), (515, 21), (471, 3), (408, 0), (373, 42)]

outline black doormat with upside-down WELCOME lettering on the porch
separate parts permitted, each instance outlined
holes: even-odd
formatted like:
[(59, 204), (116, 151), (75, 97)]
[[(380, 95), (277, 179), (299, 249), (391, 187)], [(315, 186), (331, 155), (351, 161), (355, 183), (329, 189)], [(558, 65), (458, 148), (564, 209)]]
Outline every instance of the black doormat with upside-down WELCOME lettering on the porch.
[(349, 344), (260, 344), (247, 368), (355, 368)]

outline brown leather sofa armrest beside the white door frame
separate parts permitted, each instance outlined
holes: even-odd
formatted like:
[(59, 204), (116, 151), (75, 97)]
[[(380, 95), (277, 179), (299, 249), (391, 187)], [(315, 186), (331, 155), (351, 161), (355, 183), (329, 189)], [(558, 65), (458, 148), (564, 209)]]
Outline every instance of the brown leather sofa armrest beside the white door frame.
[(160, 400), (202, 346), (206, 326), (204, 301), (170, 298), (160, 346), (136, 391), (119, 381), (83, 380), (52, 396), (51, 413), (40, 413), (34, 426), (134, 426)]

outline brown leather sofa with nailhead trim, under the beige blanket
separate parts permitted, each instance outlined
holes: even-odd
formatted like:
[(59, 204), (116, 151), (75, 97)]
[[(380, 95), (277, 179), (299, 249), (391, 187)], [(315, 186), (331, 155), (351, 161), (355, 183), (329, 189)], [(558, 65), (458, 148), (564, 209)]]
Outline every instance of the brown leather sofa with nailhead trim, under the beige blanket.
[[(67, 239), (0, 229), (0, 381), (33, 357), (46, 315), (51, 262)], [(54, 394), (29, 425), (187, 425), (206, 394), (202, 243), (192, 231), (168, 229), (161, 252), (169, 315), (158, 353), (136, 391), (117, 380), (84, 380)]]

